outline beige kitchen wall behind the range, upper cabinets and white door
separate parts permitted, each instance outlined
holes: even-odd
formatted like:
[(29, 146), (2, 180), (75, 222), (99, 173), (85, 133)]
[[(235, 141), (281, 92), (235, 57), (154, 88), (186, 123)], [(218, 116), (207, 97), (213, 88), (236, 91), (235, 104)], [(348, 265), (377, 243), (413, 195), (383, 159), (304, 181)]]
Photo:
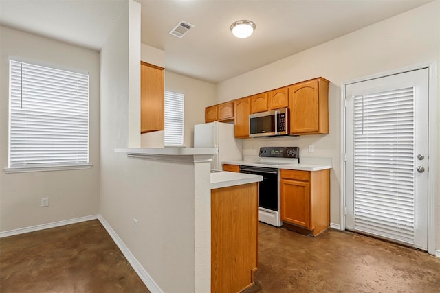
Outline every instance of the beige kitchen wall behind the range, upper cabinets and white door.
[[(434, 1), (415, 10), (399, 14), (357, 32), (331, 40), (317, 47), (289, 56), (265, 67), (250, 71), (217, 86), (218, 102), (275, 89), (302, 80), (322, 76), (330, 80), (329, 112), (330, 134), (311, 135), (288, 139), (245, 139), (244, 154), (255, 154), (260, 146), (298, 145), (300, 156), (331, 157), (331, 222), (340, 223), (340, 84), (366, 75), (437, 62), (440, 65), (440, 1)], [(267, 77), (270, 78), (267, 78)], [(440, 93), (437, 80), (437, 93)], [(440, 116), (440, 103), (437, 104)], [(431, 117), (432, 123), (439, 119)], [(437, 136), (437, 145), (440, 145)], [(314, 154), (307, 153), (313, 144)], [(437, 176), (440, 174), (439, 149), (434, 150)], [(434, 184), (437, 194), (437, 249), (440, 248), (440, 186)]]

